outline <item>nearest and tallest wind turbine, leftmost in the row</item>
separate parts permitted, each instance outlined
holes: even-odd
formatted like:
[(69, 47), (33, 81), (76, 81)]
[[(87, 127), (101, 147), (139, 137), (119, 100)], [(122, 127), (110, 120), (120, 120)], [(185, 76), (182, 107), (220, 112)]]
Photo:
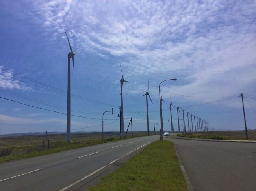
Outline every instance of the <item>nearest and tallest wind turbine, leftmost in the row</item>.
[[(67, 36), (67, 39), (68, 39), (68, 42), (69, 42), (69, 38), (68, 38), (68, 35), (66, 33), (66, 30), (64, 29), (65, 31), (65, 34)], [(71, 140), (71, 135), (70, 135), (70, 131), (71, 131), (71, 80), (70, 80), (70, 59), (72, 58), (72, 61), (73, 61), (73, 71), (75, 72), (75, 69), (74, 69), (74, 56), (75, 56), (75, 53), (73, 52), (72, 50), (72, 47), (70, 45), (70, 42), (69, 42), (69, 48), (70, 48), (70, 51), (69, 54), (68, 54), (68, 92), (67, 92), (67, 132), (66, 132), (66, 142), (70, 142)], [(75, 79), (75, 76), (74, 76), (74, 79)]]

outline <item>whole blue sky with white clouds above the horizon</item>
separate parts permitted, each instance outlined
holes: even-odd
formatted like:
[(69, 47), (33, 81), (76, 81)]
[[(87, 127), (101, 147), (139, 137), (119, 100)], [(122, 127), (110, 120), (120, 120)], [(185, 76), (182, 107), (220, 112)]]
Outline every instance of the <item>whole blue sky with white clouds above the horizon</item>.
[[(132, 117), (134, 130), (147, 130), (142, 95), (149, 80), (152, 131), (160, 121), (158, 85), (177, 78), (161, 85), (165, 130), (170, 95), (174, 106), (191, 106), (210, 128), (244, 129), (241, 92), (247, 127), (255, 129), (255, 1), (1, 1), (0, 17), (1, 97), (61, 113), (66, 29), (76, 52), (71, 93), (82, 96), (71, 98), (71, 113), (87, 117), (72, 116), (71, 131), (101, 131), (102, 113), (112, 107), (104, 127), (119, 131), (120, 64), (130, 81), (123, 86), (125, 127)], [(0, 134), (65, 129), (65, 115), (0, 99)]]

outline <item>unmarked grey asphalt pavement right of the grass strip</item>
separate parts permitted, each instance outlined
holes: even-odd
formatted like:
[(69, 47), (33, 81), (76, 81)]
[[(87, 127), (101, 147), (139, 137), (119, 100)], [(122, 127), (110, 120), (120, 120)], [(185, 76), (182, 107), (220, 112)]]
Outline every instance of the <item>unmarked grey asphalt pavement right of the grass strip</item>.
[(256, 191), (256, 143), (171, 141), (195, 191)]

